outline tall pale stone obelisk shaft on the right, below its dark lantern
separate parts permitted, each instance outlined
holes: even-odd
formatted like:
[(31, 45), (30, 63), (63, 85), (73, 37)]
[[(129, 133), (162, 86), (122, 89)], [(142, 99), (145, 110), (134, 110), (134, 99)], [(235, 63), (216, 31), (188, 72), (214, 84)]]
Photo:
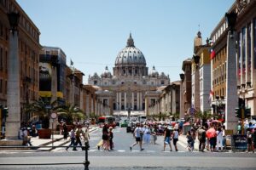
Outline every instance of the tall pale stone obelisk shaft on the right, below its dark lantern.
[(236, 133), (237, 117), (235, 116), (235, 108), (238, 105), (237, 96), (237, 78), (236, 78), (236, 33), (233, 35), (228, 32), (227, 38), (227, 80), (226, 80), (226, 107), (225, 120), (226, 129), (233, 130)]

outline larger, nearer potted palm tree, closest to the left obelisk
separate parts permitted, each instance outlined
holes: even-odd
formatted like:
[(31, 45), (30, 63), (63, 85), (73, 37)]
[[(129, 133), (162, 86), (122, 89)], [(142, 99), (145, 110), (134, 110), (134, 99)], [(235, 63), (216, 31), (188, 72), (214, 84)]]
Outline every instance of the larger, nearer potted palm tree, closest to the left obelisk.
[(26, 105), (25, 112), (32, 113), (32, 118), (38, 117), (39, 120), (42, 121), (42, 128), (49, 128), (49, 116), (53, 111), (56, 111), (57, 108), (57, 100), (49, 103), (40, 98), (32, 102), (32, 104)]

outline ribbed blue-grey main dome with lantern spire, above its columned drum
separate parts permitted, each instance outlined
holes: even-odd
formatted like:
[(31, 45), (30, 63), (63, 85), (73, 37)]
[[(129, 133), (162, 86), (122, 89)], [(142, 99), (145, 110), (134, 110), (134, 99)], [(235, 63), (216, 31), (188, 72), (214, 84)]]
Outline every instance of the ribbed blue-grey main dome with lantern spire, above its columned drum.
[(126, 47), (119, 52), (115, 59), (115, 66), (119, 65), (146, 65), (143, 53), (134, 46), (131, 33)]

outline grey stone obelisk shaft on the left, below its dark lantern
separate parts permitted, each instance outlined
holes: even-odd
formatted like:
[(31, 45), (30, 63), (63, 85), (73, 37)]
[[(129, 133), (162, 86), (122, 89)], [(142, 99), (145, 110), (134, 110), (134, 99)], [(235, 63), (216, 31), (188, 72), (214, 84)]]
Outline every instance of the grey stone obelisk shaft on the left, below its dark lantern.
[(20, 130), (20, 59), (18, 32), (9, 33), (7, 107), (5, 139), (18, 139)]

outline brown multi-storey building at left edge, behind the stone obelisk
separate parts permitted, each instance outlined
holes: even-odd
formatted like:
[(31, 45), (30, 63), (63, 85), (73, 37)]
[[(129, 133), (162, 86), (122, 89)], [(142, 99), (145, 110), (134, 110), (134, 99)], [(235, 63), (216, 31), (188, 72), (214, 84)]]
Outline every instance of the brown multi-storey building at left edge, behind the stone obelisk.
[(26, 122), (29, 115), (24, 113), (25, 106), (38, 99), (39, 92), (39, 44), (40, 31), (15, 0), (0, 1), (0, 105), (7, 105), (8, 56), (10, 26), (8, 14), (18, 12), (18, 53), (20, 69), (20, 122)]

